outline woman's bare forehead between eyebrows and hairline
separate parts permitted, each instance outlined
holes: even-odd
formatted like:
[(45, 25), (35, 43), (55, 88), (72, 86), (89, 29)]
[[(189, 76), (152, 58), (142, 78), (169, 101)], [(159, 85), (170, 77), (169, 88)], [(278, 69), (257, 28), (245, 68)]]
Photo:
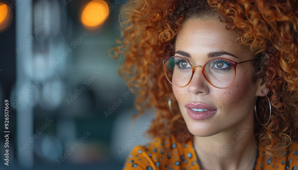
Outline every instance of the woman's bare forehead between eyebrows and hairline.
[(235, 32), (227, 30), (225, 22), (219, 19), (188, 19), (182, 24), (175, 41), (178, 50), (193, 54), (226, 51), (236, 54), (247, 53), (236, 42)]

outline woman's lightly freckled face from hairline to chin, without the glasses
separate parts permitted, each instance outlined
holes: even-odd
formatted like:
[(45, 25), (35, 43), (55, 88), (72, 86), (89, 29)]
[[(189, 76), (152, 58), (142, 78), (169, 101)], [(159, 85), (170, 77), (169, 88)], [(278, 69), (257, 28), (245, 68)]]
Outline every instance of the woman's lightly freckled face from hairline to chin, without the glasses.
[[(234, 32), (227, 30), (224, 22), (188, 19), (182, 26), (176, 38), (175, 52), (186, 52), (190, 57), (181, 52), (175, 56), (183, 57), (193, 65), (204, 65), (212, 59), (208, 54), (213, 52), (230, 53), (234, 56), (223, 54), (218, 57), (235, 62), (253, 58), (247, 48), (236, 43)], [(253, 120), (259, 83), (252, 81), (252, 75), (252, 61), (238, 64), (232, 85), (220, 89), (207, 82), (201, 67), (195, 67), (187, 86), (172, 86), (188, 130), (196, 136), (211, 136), (232, 127), (243, 127), (248, 119)]]

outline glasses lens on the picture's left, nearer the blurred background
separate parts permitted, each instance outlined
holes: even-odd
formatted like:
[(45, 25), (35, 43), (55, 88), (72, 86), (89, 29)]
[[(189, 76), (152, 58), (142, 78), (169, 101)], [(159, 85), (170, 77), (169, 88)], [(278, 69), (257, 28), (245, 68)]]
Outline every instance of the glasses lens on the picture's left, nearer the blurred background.
[(186, 60), (179, 57), (172, 57), (164, 65), (165, 74), (171, 84), (183, 87), (190, 81), (193, 71)]

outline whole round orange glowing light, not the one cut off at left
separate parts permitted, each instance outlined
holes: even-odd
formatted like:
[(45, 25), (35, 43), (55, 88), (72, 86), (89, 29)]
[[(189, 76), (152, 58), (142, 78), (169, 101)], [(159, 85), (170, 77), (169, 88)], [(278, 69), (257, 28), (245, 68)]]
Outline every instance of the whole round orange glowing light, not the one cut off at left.
[(108, 18), (109, 7), (103, 0), (90, 1), (82, 10), (80, 20), (88, 29), (96, 29)]

